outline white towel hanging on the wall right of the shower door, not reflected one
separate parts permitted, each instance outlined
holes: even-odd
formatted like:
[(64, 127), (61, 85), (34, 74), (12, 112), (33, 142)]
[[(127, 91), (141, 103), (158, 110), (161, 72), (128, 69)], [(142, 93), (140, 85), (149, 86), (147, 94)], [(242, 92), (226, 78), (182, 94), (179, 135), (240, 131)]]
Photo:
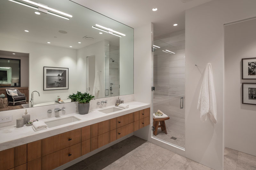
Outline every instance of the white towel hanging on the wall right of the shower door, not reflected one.
[(213, 85), (212, 65), (207, 64), (204, 71), (204, 79), (201, 86), (197, 109), (201, 113), (201, 121), (206, 121), (207, 114), (210, 114), (211, 120), (217, 123), (216, 97)]

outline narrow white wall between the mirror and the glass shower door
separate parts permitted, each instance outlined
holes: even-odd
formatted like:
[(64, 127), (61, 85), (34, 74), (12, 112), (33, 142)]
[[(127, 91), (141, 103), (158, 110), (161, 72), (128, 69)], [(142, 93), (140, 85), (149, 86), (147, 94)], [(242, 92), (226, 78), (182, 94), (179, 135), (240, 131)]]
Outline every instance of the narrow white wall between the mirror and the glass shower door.
[[(152, 40), (152, 23), (134, 29), (134, 101), (151, 103)], [(137, 130), (134, 135), (150, 141), (151, 127)]]

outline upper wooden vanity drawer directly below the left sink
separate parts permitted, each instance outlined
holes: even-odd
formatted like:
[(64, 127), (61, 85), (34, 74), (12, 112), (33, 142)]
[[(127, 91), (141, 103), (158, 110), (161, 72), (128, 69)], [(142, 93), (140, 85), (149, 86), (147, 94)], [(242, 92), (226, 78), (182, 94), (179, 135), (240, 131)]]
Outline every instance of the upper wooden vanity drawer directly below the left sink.
[(80, 142), (82, 142), (82, 128), (42, 139), (41, 156), (48, 155)]

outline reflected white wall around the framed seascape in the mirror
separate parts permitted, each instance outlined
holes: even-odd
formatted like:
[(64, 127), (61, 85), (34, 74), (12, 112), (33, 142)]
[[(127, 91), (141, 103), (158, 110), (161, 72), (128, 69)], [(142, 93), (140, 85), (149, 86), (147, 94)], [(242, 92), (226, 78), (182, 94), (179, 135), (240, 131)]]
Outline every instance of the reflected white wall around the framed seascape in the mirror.
[[(47, 44), (21, 41), (12, 38), (0, 37), (1, 50), (29, 53), (29, 92), (34, 90), (40, 93), (40, 97), (34, 95), (34, 105), (49, 101), (55, 101), (57, 95), (61, 99), (67, 99), (72, 92), (76, 92), (76, 50), (56, 47)], [(69, 68), (69, 89), (43, 91), (43, 68), (65, 67)], [(36, 81), (35, 81), (36, 80)], [(30, 98), (29, 98), (30, 100)]]

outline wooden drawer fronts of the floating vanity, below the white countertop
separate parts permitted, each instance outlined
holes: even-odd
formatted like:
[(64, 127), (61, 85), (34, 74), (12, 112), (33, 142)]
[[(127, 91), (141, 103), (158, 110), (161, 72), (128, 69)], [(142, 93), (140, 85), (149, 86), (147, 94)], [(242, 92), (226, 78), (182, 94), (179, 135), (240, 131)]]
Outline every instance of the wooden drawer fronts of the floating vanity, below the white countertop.
[(149, 108), (0, 152), (2, 170), (48, 170), (150, 124)]

